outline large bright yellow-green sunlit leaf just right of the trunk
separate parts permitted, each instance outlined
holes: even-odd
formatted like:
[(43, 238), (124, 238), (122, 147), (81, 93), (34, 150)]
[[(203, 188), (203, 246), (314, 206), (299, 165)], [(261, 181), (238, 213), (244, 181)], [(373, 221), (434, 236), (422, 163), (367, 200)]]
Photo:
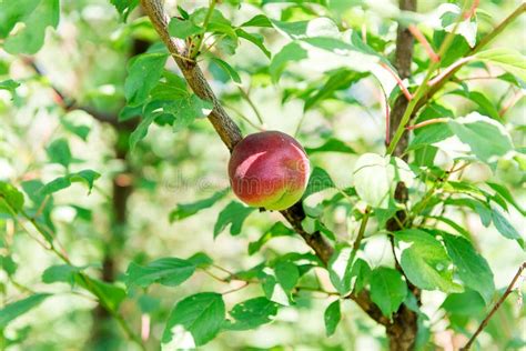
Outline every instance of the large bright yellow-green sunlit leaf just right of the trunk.
[(402, 251), (399, 264), (413, 284), (424, 290), (463, 291), (453, 281), (452, 261), (435, 237), (418, 229), (407, 229), (397, 231), (395, 240)]

